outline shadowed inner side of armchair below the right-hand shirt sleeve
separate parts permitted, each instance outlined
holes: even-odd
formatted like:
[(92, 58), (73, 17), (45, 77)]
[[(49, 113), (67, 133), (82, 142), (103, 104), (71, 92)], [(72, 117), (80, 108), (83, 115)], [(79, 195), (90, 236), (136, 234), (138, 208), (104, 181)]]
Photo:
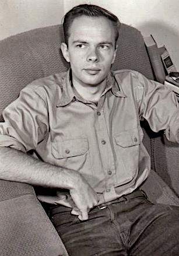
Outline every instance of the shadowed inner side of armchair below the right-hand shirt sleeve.
[(151, 157), (152, 171), (143, 184), (143, 190), (152, 202), (179, 205), (179, 146), (153, 132), (146, 121), (141, 122), (143, 143)]

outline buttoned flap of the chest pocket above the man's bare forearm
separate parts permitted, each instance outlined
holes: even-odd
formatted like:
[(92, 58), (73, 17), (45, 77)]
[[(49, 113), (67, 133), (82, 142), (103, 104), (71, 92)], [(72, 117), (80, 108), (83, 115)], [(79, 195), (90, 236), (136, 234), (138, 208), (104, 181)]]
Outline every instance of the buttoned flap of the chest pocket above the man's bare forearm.
[(64, 159), (73, 156), (84, 155), (89, 149), (88, 141), (85, 138), (66, 139), (52, 143), (52, 154), (57, 159)]

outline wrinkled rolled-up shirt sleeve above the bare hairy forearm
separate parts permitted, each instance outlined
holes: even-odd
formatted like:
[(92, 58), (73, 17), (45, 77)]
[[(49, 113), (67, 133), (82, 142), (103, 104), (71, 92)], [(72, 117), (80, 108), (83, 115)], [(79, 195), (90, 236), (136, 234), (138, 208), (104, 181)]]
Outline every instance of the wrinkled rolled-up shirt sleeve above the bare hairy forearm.
[(0, 146), (23, 152), (36, 149), (48, 131), (45, 101), (33, 87), (25, 87), (19, 98), (3, 111), (0, 123)]

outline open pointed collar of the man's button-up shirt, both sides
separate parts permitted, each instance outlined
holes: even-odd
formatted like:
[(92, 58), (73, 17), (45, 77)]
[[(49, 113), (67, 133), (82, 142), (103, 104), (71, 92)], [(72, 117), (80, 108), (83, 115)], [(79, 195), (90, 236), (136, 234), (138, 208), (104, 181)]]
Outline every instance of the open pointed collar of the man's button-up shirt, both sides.
[[(124, 92), (122, 91), (122, 88), (120, 86), (121, 80), (118, 78), (118, 76), (113, 75), (113, 71), (108, 73), (107, 80), (106, 80), (106, 89), (104, 90), (104, 94), (108, 92), (108, 90), (111, 89), (113, 94), (117, 97), (127, 97)], [(62, 79), (62, 97), (58, 101), (57, 107), (63, 107), (71, 103), (71, 101), (74, 99), (75, 93), (72, 88), (71, 83), (71, 69), (69, 69), (66, 72), (66, 76)]]

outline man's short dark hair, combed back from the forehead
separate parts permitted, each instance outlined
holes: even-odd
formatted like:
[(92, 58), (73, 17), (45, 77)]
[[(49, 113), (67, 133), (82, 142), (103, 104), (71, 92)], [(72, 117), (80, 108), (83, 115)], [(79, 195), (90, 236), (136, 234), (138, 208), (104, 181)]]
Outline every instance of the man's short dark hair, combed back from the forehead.
[(111, 20), (114, 27), (114, 31), (115, 31), (115, 44), (116, 44), (118, 35), (119, 35), (118, 30), (121, 24), (118, 17), (100, 6), (83, 4), (83, 5), (78, 5), (73, 7), (71, 10), (69, 10), (69, 12), (65, 14), (63, 18), (62, 24), (64, 28), (64, 37), (65, 37), (66, 45), (68, 45), (69, 29), (71, 27), (71, 24), (76, 17), (80, 17), (80, 16), (106, 17), (107, 19)]

